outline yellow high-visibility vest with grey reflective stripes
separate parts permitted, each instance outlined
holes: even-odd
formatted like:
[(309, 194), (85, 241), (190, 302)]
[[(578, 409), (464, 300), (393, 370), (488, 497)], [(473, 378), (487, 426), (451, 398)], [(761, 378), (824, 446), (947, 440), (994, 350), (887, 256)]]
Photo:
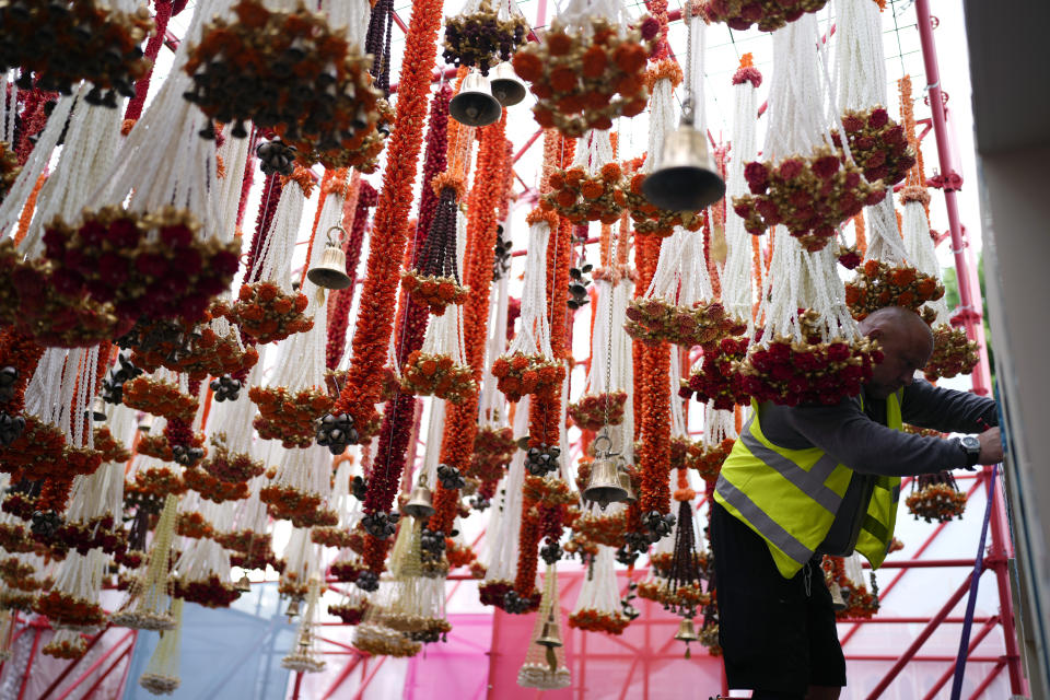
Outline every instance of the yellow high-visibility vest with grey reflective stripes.
[[(902, 429), (900, 395), (886, 401), (886, 424)], [(863, 399), (862, 399), (863, 406)], [(785, 450), (762, 434), (761, 411), (751, 401), (751, 418), (733, 446), (714, 489), (714, 500), (758, 533), (781, 575), (790, 579), (813, 558), (831, 529), (853, 470), (819, 447)], [(877, 477), (856, 551), (882, 565), (894, 538), (900, 477)]]

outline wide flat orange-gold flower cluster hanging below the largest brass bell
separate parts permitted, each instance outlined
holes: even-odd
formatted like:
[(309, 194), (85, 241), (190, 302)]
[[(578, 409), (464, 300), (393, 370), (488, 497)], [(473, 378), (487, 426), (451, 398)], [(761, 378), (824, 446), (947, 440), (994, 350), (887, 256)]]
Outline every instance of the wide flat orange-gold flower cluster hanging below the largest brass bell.
[(627, 307), (623, 328), (635, 340), (674, 342), (685, 348), (719, 342), (747, 330), (747, 324), (725, 313), (720, 302), (679, 306), (665, 299), (634, 299)]

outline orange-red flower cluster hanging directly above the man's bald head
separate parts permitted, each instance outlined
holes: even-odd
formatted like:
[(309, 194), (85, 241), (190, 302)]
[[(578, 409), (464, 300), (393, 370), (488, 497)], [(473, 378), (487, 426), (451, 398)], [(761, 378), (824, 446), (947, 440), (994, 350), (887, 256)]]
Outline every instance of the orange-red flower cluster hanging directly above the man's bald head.
[(920, 306), (942, 296), (944, 284), (936, 277), (907, 265), (890, 267), (874, 259), (845, 283), (845, 303), (858, 320), (886, 306), (903, 306), (919, 313)]

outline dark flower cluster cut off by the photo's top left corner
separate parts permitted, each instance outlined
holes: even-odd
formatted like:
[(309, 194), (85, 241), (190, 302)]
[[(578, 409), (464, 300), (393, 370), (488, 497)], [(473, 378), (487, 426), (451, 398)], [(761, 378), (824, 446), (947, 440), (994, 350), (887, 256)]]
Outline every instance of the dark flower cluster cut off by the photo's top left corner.
[[(0, 8), (0, 67), (20, 67), (24, 90), (36, 83), (68, 95), (89, 81), (89, 104), (116, 107), (116, 93), (132, 96), (135, 81), (151, 68), (140, 48), (153, 31), (150, 12), (124, 7), (84, 0)], [(33, 37), (45, 35), (50, 39), (42, 47)]]

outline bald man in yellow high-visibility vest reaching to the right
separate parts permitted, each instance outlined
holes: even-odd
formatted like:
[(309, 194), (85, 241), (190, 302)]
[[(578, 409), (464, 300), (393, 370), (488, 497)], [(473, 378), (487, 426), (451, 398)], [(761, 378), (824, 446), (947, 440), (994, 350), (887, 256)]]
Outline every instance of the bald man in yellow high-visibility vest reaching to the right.
[[(731, 688), (755, 699), (832, 700), (845, 685), (824, 555), (882, 564), (900, 477), (995, 464), (995, 401), (914, 381), (930, 328), (900, 307), (860, 324), (883, 362), (836, 406), (756, 406), (715, 487), (711, 512), (719, 637)], [(901, 423), (962, 440), (923, 438)]]

